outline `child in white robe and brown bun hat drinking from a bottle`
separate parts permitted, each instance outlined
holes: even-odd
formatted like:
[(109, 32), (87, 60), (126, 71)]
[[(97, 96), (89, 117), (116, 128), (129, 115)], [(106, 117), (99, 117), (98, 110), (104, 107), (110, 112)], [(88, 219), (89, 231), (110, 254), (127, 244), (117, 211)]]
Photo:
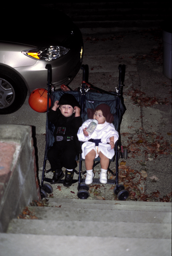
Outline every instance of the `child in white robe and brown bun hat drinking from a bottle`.
[[(114, 117), (110, 113), (110, 106), (100, 104), (95, 110), (88, 109), (87, 113), (90, 119), (83, 123), (77, 133), (78, 140), (84, 142), (82, 145), (82, 158), (85, 159), (87, 171), (85, 183), (91, 184), (93, 182), (94, 159), (99, 156), (101, 165), (100, 182), (106, 184), (109, 159), (115, 154), (114, 146), (119, 135), (112, 124)], [(86, 130), (93, 119), (98, 121), (98, 125), (95, 131), (89, 135)]]

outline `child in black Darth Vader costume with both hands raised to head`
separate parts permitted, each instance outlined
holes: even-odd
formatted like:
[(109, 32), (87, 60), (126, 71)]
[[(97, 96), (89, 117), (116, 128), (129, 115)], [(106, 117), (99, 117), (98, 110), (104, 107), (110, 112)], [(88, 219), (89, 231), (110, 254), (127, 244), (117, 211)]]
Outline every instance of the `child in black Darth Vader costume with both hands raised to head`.
[(77, 132), (82, 125), (80, 117), (80, 105), (72, 94), (65, 93), (48, 113), (48, 120), (54, 124), (53, 146), (49, 149), (47, 156), (53, 172), (51, 184), (56, 184), (64, 177), (62, 167), (66, 168), (63, 185), (72, 185), (74, 168), (77, 163), (75, 157), (81, 153), (80, 142)]

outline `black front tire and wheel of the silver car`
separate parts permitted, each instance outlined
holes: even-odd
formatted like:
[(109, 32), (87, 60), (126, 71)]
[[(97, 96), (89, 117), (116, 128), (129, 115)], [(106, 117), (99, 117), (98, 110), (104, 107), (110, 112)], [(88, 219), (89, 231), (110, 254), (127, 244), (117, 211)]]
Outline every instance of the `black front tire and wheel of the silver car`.
[(10, 114), (23, 105), (28, 89), (13, 70), (0, 66), (0, 114)]

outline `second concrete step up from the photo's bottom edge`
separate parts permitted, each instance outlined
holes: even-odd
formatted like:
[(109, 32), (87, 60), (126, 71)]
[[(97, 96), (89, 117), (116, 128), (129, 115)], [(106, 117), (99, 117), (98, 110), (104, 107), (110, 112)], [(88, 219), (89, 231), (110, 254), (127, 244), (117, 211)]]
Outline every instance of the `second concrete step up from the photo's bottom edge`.
[(53, 221), (13, 219), (8, 233), (33, 235), (98, 236), (170, 239), (169, 223), (126, 223), (97, 221)]

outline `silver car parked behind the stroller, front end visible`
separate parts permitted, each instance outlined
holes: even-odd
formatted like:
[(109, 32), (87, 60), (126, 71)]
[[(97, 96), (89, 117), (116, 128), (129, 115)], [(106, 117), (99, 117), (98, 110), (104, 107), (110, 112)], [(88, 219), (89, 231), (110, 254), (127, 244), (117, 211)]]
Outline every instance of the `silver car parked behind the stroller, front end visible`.
[(0, 32), (0, 114), (17, 111), (27, 93), (46, 88), (46, 64), (52, 65), (55, 88), (68, 85), (83, 55), (82, 34), (64, 13), (37, 6), (34, 11), (8, 8), (8, 16), (13, 22)]

